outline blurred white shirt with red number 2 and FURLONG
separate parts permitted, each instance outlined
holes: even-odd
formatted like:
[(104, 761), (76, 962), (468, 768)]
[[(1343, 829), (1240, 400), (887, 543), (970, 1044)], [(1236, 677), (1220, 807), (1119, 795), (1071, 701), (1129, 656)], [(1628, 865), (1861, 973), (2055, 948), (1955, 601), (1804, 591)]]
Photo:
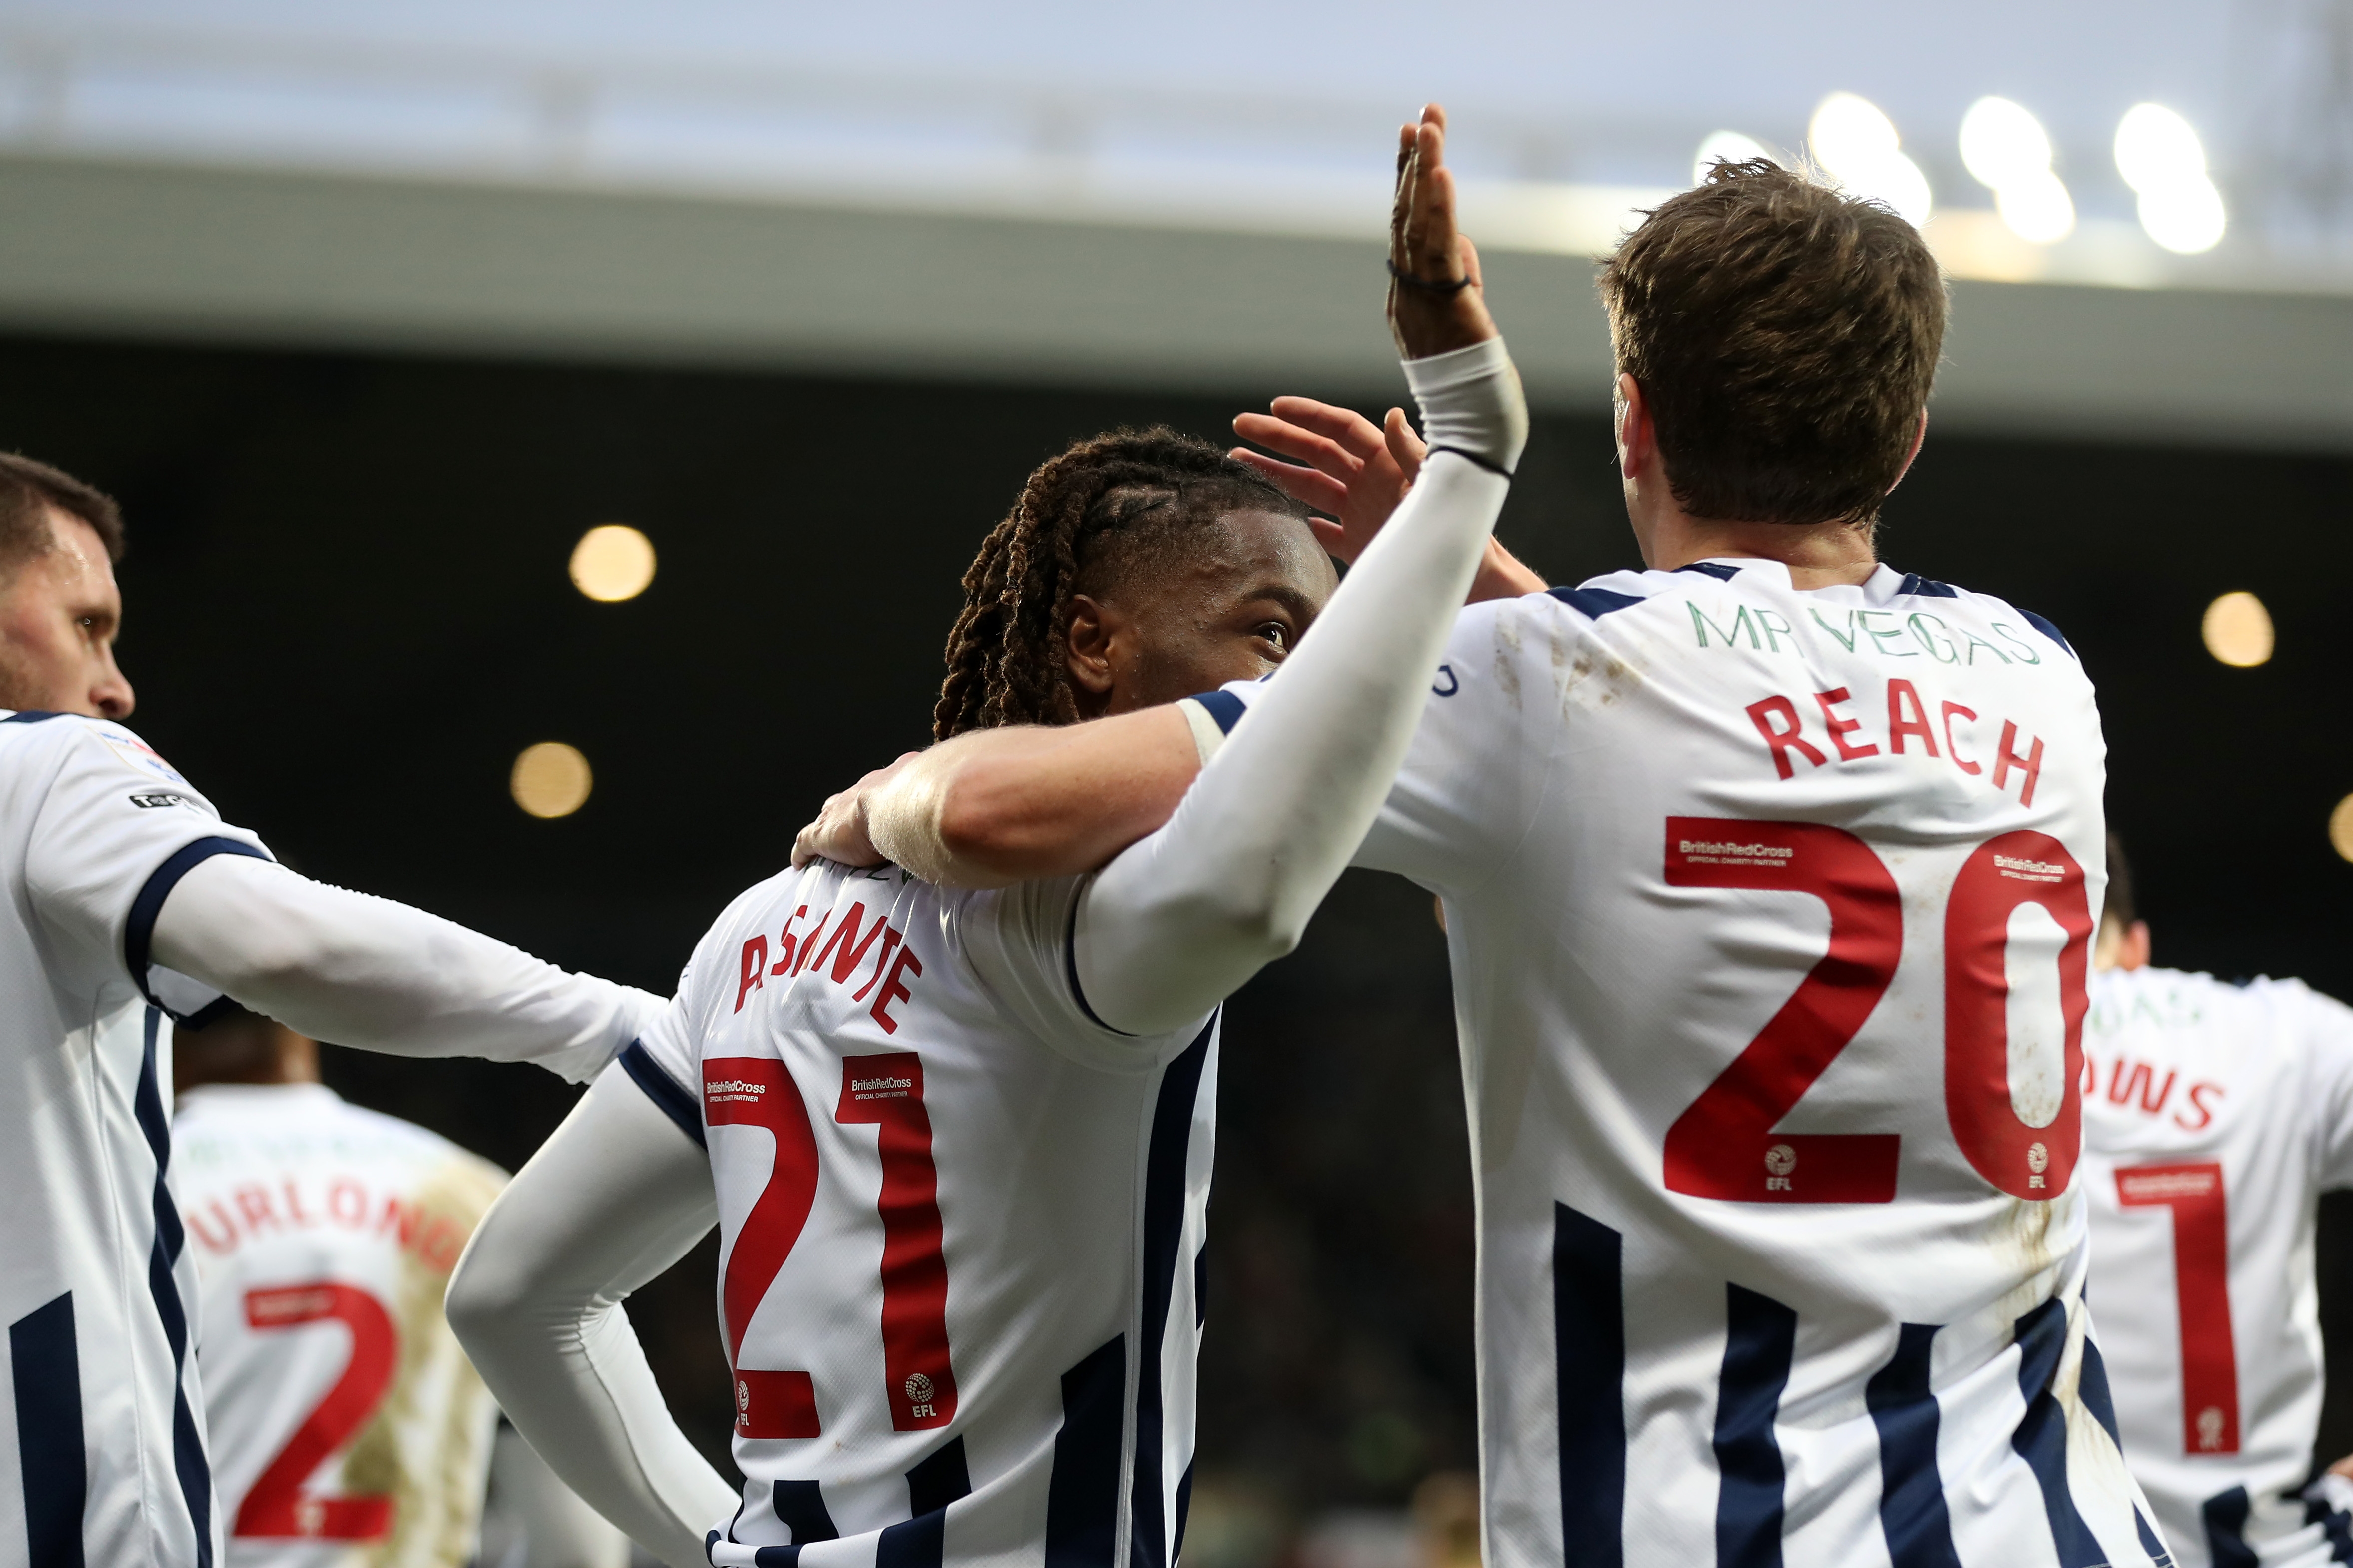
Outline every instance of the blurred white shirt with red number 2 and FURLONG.
[(464, 1568), (499, 1410), (442, 1295), (506, 1173), (320, 1084), (202, 1084), (172, 1133), (231, 1568)]

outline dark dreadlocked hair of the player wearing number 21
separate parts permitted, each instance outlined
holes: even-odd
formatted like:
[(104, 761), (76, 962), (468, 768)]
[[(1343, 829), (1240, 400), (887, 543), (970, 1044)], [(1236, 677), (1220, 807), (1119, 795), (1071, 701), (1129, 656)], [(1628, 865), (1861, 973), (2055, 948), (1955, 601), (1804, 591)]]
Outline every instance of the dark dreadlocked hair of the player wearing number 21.
[(1235, 510), (1306, 517), (1247, 463), (1167, 425), (1096, 435), (1040, 463), (965, 571), (932, 736), (1075, 724), (1064, 628), (1080, 578), (1113, 552), (1148, 550)]

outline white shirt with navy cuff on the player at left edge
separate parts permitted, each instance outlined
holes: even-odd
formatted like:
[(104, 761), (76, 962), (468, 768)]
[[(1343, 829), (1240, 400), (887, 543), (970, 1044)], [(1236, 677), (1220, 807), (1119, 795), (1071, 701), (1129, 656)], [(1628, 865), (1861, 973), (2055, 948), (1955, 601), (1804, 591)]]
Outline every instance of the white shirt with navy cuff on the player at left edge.
[(172, 1025), (212, 992), (148, 966), (165, 896), (261, 856), (136, 733), (0, 717), (0, 1561), (209, 1568), (221, 1547), (167, 1187)]

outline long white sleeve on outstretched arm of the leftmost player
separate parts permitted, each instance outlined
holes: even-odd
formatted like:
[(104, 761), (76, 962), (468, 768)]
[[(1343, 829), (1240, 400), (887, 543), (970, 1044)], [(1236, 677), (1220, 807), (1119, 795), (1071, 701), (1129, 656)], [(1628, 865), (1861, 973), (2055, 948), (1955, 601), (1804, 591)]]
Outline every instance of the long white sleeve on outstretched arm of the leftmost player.
[(576, 1084), (661, 1011), (647, 992), (254, 856), (191, 867), (155, 917), (153, 957), (313, 1039), (539, 1063)]

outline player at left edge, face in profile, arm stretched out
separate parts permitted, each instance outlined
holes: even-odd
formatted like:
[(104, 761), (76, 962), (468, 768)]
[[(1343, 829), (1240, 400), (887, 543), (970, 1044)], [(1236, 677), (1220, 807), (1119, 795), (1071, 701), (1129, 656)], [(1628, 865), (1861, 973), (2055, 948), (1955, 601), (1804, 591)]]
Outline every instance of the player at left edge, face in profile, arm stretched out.
[[(226, 994), (353, 1046), (586, 1079), (654, 999), (299, 877), (224, 823), (122, 724), (120, 555), (108, 496), (0, 454), (0, 1561), (209, 1568), (172, 1023)], [(311, 1483), (285, 1500), (329, 1507)]]

